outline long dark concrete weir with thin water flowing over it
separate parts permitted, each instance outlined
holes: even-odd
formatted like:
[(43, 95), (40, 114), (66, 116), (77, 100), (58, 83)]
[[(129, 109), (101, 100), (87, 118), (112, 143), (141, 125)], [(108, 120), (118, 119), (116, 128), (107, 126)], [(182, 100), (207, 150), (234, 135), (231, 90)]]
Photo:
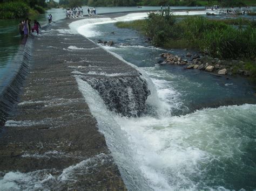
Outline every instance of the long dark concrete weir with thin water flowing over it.
[[(149, 91), (136, 69), (80, 34), (63, 32), (69, 30), (70, 22), (62, 20), (47, 26), (42, 35), (30, 37), (30, 68), (19, 102), (1, 132), (0, 180), (15, 183), (19, 189), (125, 190), (76, 77), (96, 90), (98, 87), (101, 96), (104, 89), (97, 82), (108, 81), (107, 76), (96, 70), (89, 74), (91, 68), (123, 73), (111, 80), (127, 77), (125, 83), (129, 79), (140, 81), (143, 94), (137, 96), (138, 102), (145, 103)], [(106, 100), (110, 102), (111, 98)], [(117, 105), (113, 110), (122, 110)], [(10, 172), (14, 176), (11, 180)], [(15, 179), (15, 175), (26, 179)]]

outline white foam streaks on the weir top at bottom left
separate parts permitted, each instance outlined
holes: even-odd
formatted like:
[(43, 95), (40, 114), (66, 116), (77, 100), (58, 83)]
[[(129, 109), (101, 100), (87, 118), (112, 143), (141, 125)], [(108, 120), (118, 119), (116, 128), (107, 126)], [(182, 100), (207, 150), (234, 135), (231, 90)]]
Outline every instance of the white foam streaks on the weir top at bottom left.
[[(59, 152), (50, 151), (45, 154), (57, 153)], [(76, 182), (81, 174), (90, 177), (92, 171), (97, 171), (99, 166), (108, 165), (110, 160), (108, 155), (100, 153), (56, 173), (60, 175), (51, 174), (51, 171), (57, 172), (56, 169), (42, 169), (28, 173), (8, 172), (0, 178), (0, 190), (59, 190), (62, 186), (64, 189), (67, 184), (72, 185)]]

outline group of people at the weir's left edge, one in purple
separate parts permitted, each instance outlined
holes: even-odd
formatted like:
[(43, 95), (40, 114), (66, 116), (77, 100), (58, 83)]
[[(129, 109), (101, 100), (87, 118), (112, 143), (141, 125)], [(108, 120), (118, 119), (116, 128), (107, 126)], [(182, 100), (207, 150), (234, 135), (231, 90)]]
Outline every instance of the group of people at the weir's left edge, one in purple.
[(36, 31), (37, 34), (39, 34), (39, 27), (41, 27), (41, 25), (37, 22), (37, 20), (34, 20), (32, 29), (31, 29), (30, 23), (31, 23), (31, 20), (29, 18), (26, 18), (25, 20), (23, 21), (21, 20), (19, 22), (18, 30), (21, 36), (28, 37), (31, 31), (32, 32)]

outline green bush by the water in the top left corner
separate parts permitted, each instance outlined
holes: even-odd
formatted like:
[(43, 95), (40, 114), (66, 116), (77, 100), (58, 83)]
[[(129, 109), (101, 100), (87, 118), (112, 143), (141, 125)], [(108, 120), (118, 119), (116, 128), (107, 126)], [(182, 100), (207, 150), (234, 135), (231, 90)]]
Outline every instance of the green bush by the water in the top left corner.
[(0, 4), (0, 19), (13, 19), (26, 17), (29, 6), (24, 2), (5, 2)]

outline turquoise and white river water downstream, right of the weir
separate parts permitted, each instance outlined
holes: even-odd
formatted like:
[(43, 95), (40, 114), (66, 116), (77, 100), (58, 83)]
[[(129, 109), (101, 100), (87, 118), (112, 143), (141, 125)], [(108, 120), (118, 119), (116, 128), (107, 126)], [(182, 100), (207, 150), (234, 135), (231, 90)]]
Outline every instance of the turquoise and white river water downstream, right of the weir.
[[(187, 52), (152, 47), (136, 31), (114, 26), (119, 20), (143, 17), (132, 13), (70, 24), (74, 33), (92, 41), (113, 40), (114, 46), (103, 48), (137, 68), (151, 91), (145, 114), (127, 118), (107, 110), (97, 91), (77, 80), (127, 189), (256, 189), (254, 86), (242, 77), (159, 66), (161, 53)], [(211, 108), (232, 102), (254, 104)], [(12, 174), (10, 182), (17, 185), (18, 175)]]

